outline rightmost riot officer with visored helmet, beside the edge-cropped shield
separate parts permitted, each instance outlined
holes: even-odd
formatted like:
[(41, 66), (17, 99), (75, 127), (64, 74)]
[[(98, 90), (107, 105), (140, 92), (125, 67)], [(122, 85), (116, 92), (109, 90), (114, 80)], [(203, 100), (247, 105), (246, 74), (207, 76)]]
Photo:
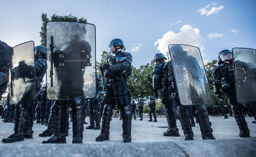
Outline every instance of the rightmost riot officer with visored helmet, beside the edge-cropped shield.
[(229, 50), (222, 50), (219, 52), (218, 64), (219, 65), (213, 69), (212, 73), (214, 93), (219, 99), (223, 99), (223, 95), (226, 94), (240, 130), (239, 136), (241, 138), (250, 137), (250, 130), (244, 118), (242, 106), (236, 101), (232, 52)]

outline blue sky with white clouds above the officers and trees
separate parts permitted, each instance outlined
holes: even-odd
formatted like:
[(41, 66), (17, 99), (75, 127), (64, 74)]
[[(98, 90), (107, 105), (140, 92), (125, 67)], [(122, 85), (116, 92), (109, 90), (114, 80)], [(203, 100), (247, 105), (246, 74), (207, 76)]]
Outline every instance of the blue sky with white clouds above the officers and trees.
[(0, 39), (39, 45), (42, 13), (94, 24), (97, 61), (112, 39), (122, 39), (136, 68), (169, 44), (199, 47), (204, 63), (223, 49), (256, 48), (256, 0), (1, 0)]

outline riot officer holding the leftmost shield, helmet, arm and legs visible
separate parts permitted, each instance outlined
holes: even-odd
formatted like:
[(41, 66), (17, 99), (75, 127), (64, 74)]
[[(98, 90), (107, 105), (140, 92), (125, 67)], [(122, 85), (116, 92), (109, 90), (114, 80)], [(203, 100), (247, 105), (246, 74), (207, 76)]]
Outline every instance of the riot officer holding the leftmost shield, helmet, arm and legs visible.
[[(35, 47), (35, 82), (36, 82), (36, 92), (40, 90), (40, 83), (45, 75), (47, 65), (45, 60), (45, 47), (44, 46), (36, 46)], [(20, 63), (25, 64), (25, 63)], [(25, 66), (27, 67), (27, 66)], [(30, 68), (33, 69), (33, 68)], [(25, 69), (24, 69), (25, 70)], [(33, 71), (31, 71), (34, 73)], [(31, 73), (29, 72), (29, 73)], [(20, 101), (15, 104), (15, 133), (10, 135), (7, 138), (4, 138), (2, 142), (4, 143), (12, 143), (17, 141), (23, 141), (24, 138), (33, 138), (33, 121), (35, 116), (34, 103), (33, 101), (26, 101), (25, 95), (32, 92), (30, 89), (25, 91)]]

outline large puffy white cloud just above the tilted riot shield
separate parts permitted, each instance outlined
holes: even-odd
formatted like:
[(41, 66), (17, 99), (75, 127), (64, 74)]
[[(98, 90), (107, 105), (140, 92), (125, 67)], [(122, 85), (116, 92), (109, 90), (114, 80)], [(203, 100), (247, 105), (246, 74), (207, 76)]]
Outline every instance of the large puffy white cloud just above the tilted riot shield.
[(200, 35), (198, 28), (184, 25), (181, 27), (179, 33), (168, 31), (161, 39), (157, 39), (157, 41), (154, 42), (154, 46), (157, 46), (157, 50), (160, 53), (165, 54), (170, 44), (187, 44), (199, 47), (203, 41), (204, 39)]

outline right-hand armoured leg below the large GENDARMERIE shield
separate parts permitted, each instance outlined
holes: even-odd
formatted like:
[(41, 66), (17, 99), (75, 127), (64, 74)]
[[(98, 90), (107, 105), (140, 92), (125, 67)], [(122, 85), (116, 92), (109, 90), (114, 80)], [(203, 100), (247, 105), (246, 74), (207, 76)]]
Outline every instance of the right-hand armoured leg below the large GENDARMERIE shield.
[(84, 131), (84, 118), (83, 118), (83, 101), (82, 97), (75, 97), (71, 101), (72, 108), (72, 130), (73, 140), (72, 143), (82, 143)]

